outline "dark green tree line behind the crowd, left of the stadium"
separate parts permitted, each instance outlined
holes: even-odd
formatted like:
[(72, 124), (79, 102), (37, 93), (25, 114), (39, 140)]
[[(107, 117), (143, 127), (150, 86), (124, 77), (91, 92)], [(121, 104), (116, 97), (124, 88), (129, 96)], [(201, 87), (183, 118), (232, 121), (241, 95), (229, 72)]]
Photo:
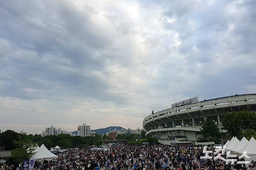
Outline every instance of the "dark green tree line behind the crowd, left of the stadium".
[[(142, 142), (155, 143), (158, 140), (154, 137), (145, 138), (146, 132), (141, 134), (118, 134), (116, 139), (130, 139), (127, 144), (142, 144)], [(62, 149), (70, 147), (85, 148), (88, 146), (100, 146), (102, 141), (109, 140), (107, 135), (96, 134), (90, 137), (71, 136), (69, 134), (60, 135), (22, 135), (13, 130), (6, 130), (0, 133), (0, 146), (5, 146), (5, 150), (12, 150), (14, 160), (22, 161), (25, 158), (32, 157), (32, 152), (27, 152), (29, 144), (44, 144), (47, 149), (51, 147), (60, 146)], [(25, 146), (25, 144), (28, 144)]]

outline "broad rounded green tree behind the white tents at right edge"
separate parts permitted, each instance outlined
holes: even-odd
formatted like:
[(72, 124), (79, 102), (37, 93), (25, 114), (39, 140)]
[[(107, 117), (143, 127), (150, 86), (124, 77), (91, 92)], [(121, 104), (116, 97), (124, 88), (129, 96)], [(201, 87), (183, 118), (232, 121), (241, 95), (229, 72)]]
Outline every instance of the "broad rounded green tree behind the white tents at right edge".
[(222, 125), (231, 136), (237, 136), (241, 130), (256, 131), (256, 114), (250, 111), (228, 112), (224, 115)]

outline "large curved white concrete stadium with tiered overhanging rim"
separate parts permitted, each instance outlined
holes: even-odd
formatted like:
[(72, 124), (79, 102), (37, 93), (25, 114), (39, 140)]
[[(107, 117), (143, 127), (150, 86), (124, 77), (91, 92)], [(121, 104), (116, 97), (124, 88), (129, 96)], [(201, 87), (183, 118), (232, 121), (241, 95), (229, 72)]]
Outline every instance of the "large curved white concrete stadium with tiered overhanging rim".
[[(152, 111), (144, 118), (143, 127), (146, 136), (157, 137), (161, 141), (186, 143), (195, 142), (200, 134), (203, 120), (212, 119), (221, 132), (226, 132), (221, 125), (224, 114), (231, 111), (256, 111), (256, 94), (241, 94), (198, 101), (193, 97), (172, 104), (171, 108)], [(227, 141), (229, 137), (223, 137)]]

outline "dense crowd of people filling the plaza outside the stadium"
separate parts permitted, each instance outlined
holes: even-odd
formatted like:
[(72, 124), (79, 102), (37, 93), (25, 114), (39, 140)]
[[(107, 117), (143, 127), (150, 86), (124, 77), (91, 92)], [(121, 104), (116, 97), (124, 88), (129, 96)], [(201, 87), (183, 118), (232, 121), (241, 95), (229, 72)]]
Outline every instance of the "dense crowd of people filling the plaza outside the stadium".
[[(209, 147), (214, 151), (213, 147)], [(41, 161), (34, 170), (256, 170), (254, 161), (250, 165), (225, 165), (221, 160), (200, 159), (203, 147), (193, 146), (112, 146), (110, 149), (68, 149), (58, 159)], [(224, 155), (226, 156), (226, 155)], [(25, 170), (22, 166), (1, 170)]]

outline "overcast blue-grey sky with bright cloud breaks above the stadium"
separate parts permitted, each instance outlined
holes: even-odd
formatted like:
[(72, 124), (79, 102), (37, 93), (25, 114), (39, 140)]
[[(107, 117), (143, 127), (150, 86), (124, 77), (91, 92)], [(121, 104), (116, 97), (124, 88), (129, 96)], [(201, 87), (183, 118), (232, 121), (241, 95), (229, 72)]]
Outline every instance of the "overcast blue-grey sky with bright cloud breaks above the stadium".
[(256, 92), (255, 0), (0, 1), (0, 129), (142, 128)]

